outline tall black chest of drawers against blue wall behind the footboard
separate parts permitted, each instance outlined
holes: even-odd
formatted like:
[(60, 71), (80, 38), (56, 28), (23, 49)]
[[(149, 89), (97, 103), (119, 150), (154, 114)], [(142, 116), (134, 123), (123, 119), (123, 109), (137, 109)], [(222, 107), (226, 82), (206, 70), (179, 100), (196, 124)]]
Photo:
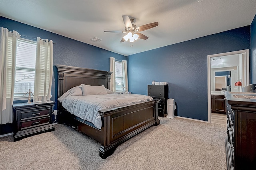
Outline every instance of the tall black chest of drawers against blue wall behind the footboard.
[(148, 96), (160, 99), (158, 103), (158, 116), (167, 116), (167, 99), (168, 99), (168, 84), (166, 85), (148, 85)]

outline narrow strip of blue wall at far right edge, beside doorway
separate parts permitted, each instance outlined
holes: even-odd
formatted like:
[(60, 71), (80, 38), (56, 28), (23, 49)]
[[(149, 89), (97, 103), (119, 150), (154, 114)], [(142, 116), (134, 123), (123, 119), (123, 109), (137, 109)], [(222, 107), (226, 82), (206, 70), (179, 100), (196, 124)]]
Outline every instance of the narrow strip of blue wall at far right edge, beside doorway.
[(250, 83), (256, 83), (256, 15), (251, 24)]

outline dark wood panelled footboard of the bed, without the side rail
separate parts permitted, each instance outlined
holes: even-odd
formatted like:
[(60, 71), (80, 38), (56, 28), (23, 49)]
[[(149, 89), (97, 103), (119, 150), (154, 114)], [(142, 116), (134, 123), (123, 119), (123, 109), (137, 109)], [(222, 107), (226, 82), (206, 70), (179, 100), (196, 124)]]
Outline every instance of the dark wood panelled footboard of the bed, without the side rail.
[(152, 100), (100, 110), (100, 115), (104, 117), (104, 141), (100, 146), (100, 157), (108, 157), (124, 141), (152, 125), (159, 125), (156, 103), (157, 100)]

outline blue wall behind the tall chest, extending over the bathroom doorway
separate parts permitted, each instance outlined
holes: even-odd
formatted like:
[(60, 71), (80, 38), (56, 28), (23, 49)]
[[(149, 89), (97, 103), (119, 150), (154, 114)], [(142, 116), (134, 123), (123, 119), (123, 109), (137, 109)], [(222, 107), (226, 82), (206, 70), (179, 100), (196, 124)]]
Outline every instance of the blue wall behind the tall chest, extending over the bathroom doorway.
[(208, 120), (207, 55), (250, 49), (250, 25), (128, 56), (129, 91), (168, 82), (177, 115)]

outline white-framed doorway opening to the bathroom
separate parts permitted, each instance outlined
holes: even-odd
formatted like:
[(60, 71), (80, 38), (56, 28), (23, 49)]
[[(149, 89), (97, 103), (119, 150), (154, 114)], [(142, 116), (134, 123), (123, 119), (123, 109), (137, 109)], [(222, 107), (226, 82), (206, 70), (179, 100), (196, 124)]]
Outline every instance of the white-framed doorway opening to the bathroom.
[[(208, 122), (212, 123), (212, 109), (223, 105), (223, 110), (219, 109), (218, 112), (225, 110), (224, 104), (216, 101), (216, 106), (212, 107), (212, 95), (223, 96), (222, 90), (231, 92), (240, 92), (243, 86), (249, 84), (249, 50), (232, 51), (228, 53), (220, 53), (207, 56), (207, 70), (208, 70)], [(217, 74), (218, 73), (218, 74)], [(218, 78), (225, 77), (225, 78)], [(224, 82), (220, 82), (223, 80)], [(234, 86), (235, 82), (240, 80), (242, 86)], [(214, 96), (213, 96), (214, 97)], [(224, 119), (224, 118), (223, 118)], [(215, 120), (214, 120), (215, 121)]]

